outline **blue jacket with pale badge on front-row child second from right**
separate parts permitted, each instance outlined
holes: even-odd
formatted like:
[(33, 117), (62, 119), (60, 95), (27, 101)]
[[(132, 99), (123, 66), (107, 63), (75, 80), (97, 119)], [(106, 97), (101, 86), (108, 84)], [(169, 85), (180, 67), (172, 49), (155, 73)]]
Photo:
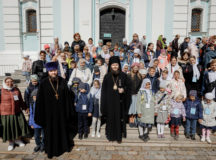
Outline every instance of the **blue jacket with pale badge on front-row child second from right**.
[(191, 101), (187, 99), (184, 103), (186, 118), (188, 119), (202, 119), (203, 118), (203, 109), (200, 100), (196, 99)]

